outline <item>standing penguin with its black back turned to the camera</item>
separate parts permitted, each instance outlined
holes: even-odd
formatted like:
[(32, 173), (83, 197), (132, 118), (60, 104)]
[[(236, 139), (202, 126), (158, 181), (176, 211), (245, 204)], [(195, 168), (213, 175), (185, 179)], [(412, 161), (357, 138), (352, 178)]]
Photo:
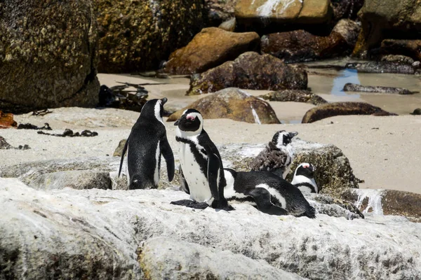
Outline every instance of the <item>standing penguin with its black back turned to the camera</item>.
[(127, 151), (128, 188), (158, 188), (161, 154), (166, 160), (168, 181), (174, 177), (174, 155), (166, 138), (163, 125), (163, 104), (167, 99), (152, 99), (146, 102), (140, 116), (133, 125), (121, 155), (119, 176)]

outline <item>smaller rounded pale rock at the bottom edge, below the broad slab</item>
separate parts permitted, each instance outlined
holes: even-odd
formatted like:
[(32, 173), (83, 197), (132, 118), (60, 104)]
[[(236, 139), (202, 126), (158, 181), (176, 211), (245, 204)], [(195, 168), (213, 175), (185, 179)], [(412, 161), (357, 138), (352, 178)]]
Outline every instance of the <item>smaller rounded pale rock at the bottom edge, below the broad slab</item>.
[(146, 279), (303, 279), (265, 260), (168, 237), (147, 239), (138, 251)]

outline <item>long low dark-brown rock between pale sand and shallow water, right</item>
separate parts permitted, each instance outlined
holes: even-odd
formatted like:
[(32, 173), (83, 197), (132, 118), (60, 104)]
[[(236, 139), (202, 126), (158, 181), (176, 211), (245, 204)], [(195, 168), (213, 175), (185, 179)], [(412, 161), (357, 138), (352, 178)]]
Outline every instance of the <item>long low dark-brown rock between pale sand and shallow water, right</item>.
[(323, 118), (343, 115), (396, 116), (394, 113), (364, 102), (333, 102), (309, 109), (302, 117), (301, 123), (314, 123)]

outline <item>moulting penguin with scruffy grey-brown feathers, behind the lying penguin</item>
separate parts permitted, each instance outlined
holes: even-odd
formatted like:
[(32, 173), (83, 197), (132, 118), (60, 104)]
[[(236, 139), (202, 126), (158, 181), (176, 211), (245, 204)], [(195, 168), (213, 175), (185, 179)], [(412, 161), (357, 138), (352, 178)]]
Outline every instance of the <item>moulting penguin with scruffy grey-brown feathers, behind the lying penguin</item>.
[(273, 172), (285, 179), (290, 172), (290, 165), (293, 163), (295, 154), (291, 141), (297, 134), (298, 132), (285, 130), (276, 132), (265, 150), (251, 162), (251, 170)]

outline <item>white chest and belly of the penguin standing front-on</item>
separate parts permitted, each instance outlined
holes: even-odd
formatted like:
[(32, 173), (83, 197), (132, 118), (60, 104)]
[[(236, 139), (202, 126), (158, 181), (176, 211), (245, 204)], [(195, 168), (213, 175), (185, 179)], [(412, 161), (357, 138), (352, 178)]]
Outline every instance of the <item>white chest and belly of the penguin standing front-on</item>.
[[(201, 150), (199, 149), (199, 151)], [(212, 204), (213, 197), (210, 192), (209, 182), (203, 173), (207, 172), (207, 164), (204, 168), (199, 165), (189, 144), (180, 143), (179, 155), (182, 172), (189, 185), (190, 198), (196, 202)], [(207, 156), (201, 152), (199, 152), (199, 156), (203, 156), (207, 160)]]

